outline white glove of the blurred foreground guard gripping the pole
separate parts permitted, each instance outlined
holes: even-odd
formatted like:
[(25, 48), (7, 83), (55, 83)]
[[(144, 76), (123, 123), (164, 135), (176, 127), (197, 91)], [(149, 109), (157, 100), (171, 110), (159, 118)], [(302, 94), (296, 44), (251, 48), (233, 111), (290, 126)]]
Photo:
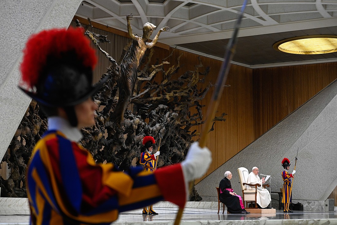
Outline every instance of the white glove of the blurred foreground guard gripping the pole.
[(212, 161), (211, 152), (207, 147), (200, 148), (198, 142), (194, 142), (189, 148), (186, 158), (181, 162), (185, 181), (192, 181), (202, 177)]

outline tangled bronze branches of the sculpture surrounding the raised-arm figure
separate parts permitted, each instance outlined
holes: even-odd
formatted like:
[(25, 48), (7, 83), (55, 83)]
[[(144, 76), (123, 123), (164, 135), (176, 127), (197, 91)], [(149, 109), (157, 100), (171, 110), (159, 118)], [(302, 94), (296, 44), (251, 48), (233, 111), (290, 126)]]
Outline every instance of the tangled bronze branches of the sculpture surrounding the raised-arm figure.
[[(77, 21), (76, 24), (81, 27)], [(127, 170), (132, 161), (140, 155), (140, 146), (145, 135), (151, 135), (159, 140), (162, 135), (160, 146), (161, 157), (158, 160), (158, 167), (179, 163), (185, 157), (186, 151), (195, 136), (199, 133), (193, 127), (204, 123), (202, 107), (200, 102), (206, 93), (213, 86), (208, 84), (205, 89), (198, 89), (197, 83), (204, 82), (210, 71), (209, 67), (204, 67), (199, 58), (198, 65), (191, 71), (180, 72), (180, 58), (172, 57), (172, 66), (164, 68), (170, 64), (168, 57), (159, 61), (157, 65), (150, 63), (153, 55), (153, 48), (145, 52), (143, 56), (144, 64), (141, 62), (142, 70), (135, 76), (134, 96), (130, 96), (132, 110), (125, 110), (123, 132), (120, 133), (114, 121), (114, 111), (116, 111), (116, 95), (118, 92), (117, 81), (119, 79), (120, 67), (118, 63), (99, 44), (109, 42), (106, 36), (95, 34), (88, 30), (90, 26), (84, 27), (85, 34), (92, 40), (93, 44), (111, 62), (108, 71), (102, 77), (109, 76), (106, 85), (94, 96), (98, 106), (103, 106), (97, 110), (96, 124), (91, 128), (82, 130), (84, 138), (81, 144), (87, 148), (97, 162), (113, 162), (121, 170)], [(133, 40), (132, 40), (133, 41)], [(173, 52), (176, 51), (173, 49)], [(171, 56), (170, 55), (170, 56)], [(142, 56), (142, 57), (143, 57)], [(124, 58), (124, 57), (123, 57)], [(122, 60), (119, 60), (122, 61)], [(153, 61), (153, 60), (152, 60)], [(204, 67), (204, 71), (200, 72)], [(154, 78), (163, 72), (161, 83), (156, 83)], [(172, 77), (177, 73), (178, 78)], [(131, 74), (134, 75), (134, 74)], [(140, 87), (144, 85), (144, 90)], [(190, 109), (195, 108), (195, 113), (191, 114)], [(214, 121), (224, 121), (225, 114), (214, 118)], [(148, 121), (148, 122), (145, 122)], [(40, 136), (47, 129), (47, 120), (40, 113), (35, 101), (31, 102), (27, 113), (18, 127), (13, 140), (2, 161), (6, 161), (13, 169), (12, 176), (8, 180), (0, 177), (2, 197), (26, 197), (25, 168), (29, 156)], [(119, 135), (122, 134), (122, 135)], [(124, 134), (124, 135), (123, 135)], [(158, 146), (155, 146), (155, 149)], [(197, 193), (193, 192), (193, 200), (200, 200)]]

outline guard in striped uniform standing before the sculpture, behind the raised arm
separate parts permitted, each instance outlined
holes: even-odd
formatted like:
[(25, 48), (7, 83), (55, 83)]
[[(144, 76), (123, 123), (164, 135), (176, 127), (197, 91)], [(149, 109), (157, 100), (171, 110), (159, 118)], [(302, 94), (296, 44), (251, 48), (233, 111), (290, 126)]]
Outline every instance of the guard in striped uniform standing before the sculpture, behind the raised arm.
[[(153, 145), (155, 143), (156, 141), (152, 136), (145, 136), (143, 138), (143, 150), (139, 163), (141, 165), (144, 165), (144, 171), (154, 171), (157, 166), (156, 157), (160, 154), (160, 152), (157, 151), (152, 155)], [(153, 210), (152, 205), (149, 206), (149, 209), (147, 207), (144, 207), (143, 214), (158, 215), (158, 213)]]

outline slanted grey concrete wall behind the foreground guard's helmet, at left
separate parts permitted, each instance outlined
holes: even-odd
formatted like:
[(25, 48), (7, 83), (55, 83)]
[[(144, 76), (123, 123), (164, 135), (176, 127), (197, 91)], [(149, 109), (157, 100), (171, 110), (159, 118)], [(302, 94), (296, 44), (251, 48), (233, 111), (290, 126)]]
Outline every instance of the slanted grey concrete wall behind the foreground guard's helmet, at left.
[(68, 27), (82, 0), (2, 0), (0, 7), (0, 157), (5, 154), (31, 101), (18, 88), (19, 64), (28, 37)]

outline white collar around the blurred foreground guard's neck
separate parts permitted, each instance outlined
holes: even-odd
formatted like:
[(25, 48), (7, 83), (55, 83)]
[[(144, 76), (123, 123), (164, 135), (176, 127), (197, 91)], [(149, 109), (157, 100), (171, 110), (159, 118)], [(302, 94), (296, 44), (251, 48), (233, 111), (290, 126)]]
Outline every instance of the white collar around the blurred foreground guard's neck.
[(48, 130), (61, 131), (67, 139), (73, 142), (79, 142), (83, 135), (77, 127), (73, 127), (70, 123), (62, 117), (49, 117)]

